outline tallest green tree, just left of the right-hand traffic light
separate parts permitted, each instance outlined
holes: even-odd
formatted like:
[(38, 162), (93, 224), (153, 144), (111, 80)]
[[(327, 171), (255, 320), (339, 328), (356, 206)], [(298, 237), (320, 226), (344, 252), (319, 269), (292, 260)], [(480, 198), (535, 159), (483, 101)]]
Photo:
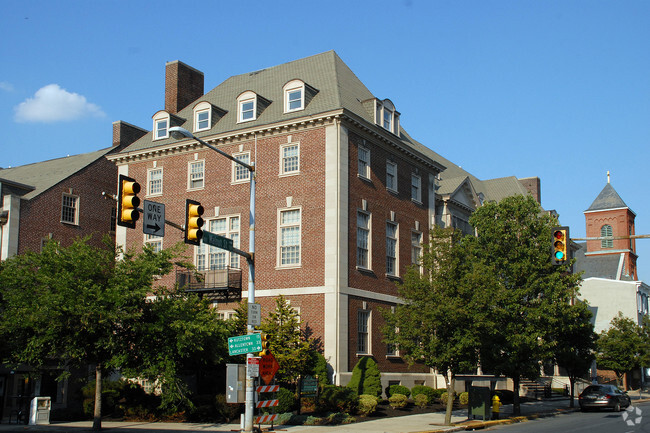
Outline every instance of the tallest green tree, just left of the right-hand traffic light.
[(570, 264), (551, 264), (551, 228), (557, 221), (530, 195), (485, 203), (470, 224), (477, 236), (467, 238), (468, 260), (484, 276), (488, 295), (481, 366), (513, 379), (518, 415), (520, 379), (536, 379), (540, 362), (552, 358), (557, 306), (575, 297), (580, 276), (568, 272)]

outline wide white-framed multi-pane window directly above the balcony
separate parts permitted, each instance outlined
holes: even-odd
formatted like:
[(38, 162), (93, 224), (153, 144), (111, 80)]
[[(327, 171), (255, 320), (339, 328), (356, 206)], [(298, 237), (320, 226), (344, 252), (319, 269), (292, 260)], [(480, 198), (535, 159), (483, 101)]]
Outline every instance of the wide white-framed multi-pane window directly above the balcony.
[[(207, 230), (219, 236), (232, 239), (233, 246), (239, 248), (239, 216), (217, 218), (206, 223)], [(221, 248), (201, 243), (196, 249), (196, 267), (200, 271), (239, 268), (239, 256)]]

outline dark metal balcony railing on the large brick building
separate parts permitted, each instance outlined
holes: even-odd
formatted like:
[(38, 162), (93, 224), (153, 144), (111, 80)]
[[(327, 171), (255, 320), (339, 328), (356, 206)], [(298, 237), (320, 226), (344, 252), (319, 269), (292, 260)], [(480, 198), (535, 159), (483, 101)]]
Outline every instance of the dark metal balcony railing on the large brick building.
[(241, 269), (225, 268), (205, 271), (176, 270), (181, 290), (198, 293), (216, 301), (241, 300)]

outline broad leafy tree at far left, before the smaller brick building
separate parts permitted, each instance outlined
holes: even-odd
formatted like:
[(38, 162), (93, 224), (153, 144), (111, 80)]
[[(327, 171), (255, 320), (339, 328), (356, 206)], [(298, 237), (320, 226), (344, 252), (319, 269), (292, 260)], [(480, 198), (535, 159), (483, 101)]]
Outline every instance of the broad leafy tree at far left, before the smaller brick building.
[[(93, 428), (100, 429), (106, 372), (124, 367), (152, 377), (158, 370), (156, 379), (174, 389), (166, 385), (177, 383), (182, 364), (195, 359), (219, 330), (207, 304), (152, 287), (173, 269), (182, 244), (122, 254), (108, 240), (96, 248), (88, 239), (67, 248), (51, 241), (40, 253), (0, 264), (0, 338), (8, 342), (4, 361), (14, 365), (64, 371), (94, 365)], [(152, 293), (159, 297), (148, 300)]]

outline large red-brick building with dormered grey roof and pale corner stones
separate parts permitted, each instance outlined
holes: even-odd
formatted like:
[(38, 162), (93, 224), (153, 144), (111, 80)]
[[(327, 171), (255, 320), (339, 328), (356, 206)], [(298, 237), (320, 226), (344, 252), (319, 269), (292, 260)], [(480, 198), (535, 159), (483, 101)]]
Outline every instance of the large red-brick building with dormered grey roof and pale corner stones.
[[(481, 181), (411, 138), (397, 108), (333, 51), (233, 76), (207, 93), (200, 71), (174, 61), (151, 131), (108, 158), (141, 183), (142, 198), (165, 204), (167, 220), (182, 224), (185, 200), (199, 201), (204, 228), (244, 250), (248, 171), (195, 140), (173, 139), (169, 128), (254, 164), (255, 295), (263, 315), (284, 295), (320, 341), (335, 383), (347, 383), (359, 357), (372, 355), (384, 385), (437, 386), (433, 372), (409, 367), (382, 342), (381, 309), (400, 302), (395, 283), (417, 261), (432, 225), (470, 233), (469, 215), (483, 200), (539, 198), (539, 179)], [(118, 227), (117, 241), (164, 248), (183, 239), (171, 227), (164, 238), (139, 228)], [(226, 287), (217, 276), (241, 269), (245, 288), (245, 260), (205, 244), (187, 254), (212, 282), (202, 289), (229, 317), (236, 302), (219, 297)]]

